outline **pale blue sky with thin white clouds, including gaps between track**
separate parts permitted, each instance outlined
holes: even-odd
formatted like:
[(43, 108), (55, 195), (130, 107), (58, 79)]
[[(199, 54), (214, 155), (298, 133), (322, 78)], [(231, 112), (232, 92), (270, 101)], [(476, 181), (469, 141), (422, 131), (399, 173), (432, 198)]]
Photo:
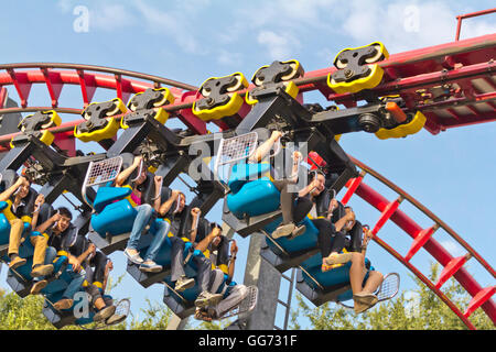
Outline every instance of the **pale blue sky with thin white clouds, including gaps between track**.
[[(87, 28), (80, 26), (80, 6), (88, 11)], [(399, 0), (10, 2), (0, 13), (0, 30), (4, 33), (2, 62), (91, 64), (200, 86), (208, 77), (234, 72), (242, 72), (249, 79), (260, 66), (274, 59), (296, 58), (308, 72), (328, 67), (342, 48), (373, 41), (381, 41), (391, 54), (452, 42), (457, 14), (492, 7), (492, 1)], [(496, 14), (490, 14), (465, 20), (461, 37), (495, 33), (495, 19)], [(82, 107), (78, 89), (64, 87), (60, 106)], [(12, 87), (9, 92), (17, 99)], [(94, 101), (114, 97), (115, 92), (98, 89)], [(305, 95), (305, 101), (327, 105), (314, 92)], [(46, 88), (33, 86), (30, 105), (48, 102)], [(176, 125), (180, 125), (176, 121), (168, 122), (168, 127)], [(439, 135), (422, 130), (407, 139), (387, 141), (363, 132), (343, 136), (341, 144), (347, 153), (428, 206), (494, 266), (495, 132), (495, 123), (452, 129)], [(389, 199), (396, 198), (370, 178), (365, 182)], [(365, 223), (374, 224), (379, 217), (359, 198), (352, 198), (351, 205)], [(406, 209), (420, 224), (432, 224), (403, 205), (400, 209)], [(220, 202), (207, 218), (218, 221), (219, 217)], [(403, 255), (411, 244), (411, 239), (392, 223), (387, 223), (379, 237)], [(442, 231), (434, 238), (453, 255), (464, 254)], [(248, 240), (236, 239), (241, 253), (235, 278), (242, 282)], [(401, 289), (412, 287), (403, 266), (377, 244), (370, 245), (368, 256), (379, 271), (400, 273)], [(123, 274), (122, 254), (115, 253), (111, 257), (116, 263), (114, 275)], [(425, 272), (431, 260), (421, 250), (412, 263)], [(483, 287), (494, 285), (494, 278), (477, 262), (470, 261), (467, 267)], [(3, 287), (4, 276), (2, 271)], [(161, 286), (143, 289), (126, 275), (115, 295), (131, 296), (132, 310), (139, 315), (145, 298), (161, 301), (162, 293)], [(281, 314), (278, 321), (280, 317)]]

